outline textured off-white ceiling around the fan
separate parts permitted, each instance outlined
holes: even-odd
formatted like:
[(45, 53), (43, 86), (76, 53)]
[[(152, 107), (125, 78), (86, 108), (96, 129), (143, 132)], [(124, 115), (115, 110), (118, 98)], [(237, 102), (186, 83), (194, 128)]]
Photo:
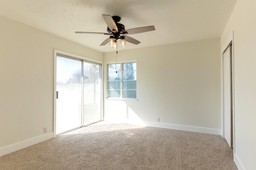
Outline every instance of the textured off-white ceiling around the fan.
[(156, 30), (130, 35), (141, 43), (118, 50), (220, 37), (237, 0), (1, 0), (0, 15), (31, 25), (97, 51), (108, 35), (102, 14), (120, 16), (126, 29), (154, 25)]

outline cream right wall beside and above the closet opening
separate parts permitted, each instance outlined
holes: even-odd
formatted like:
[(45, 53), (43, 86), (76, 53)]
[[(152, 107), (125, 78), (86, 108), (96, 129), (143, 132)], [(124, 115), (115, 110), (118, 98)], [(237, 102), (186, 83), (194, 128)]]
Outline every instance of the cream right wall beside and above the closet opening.
[(235, 154), (239, 169), (256, 169), (256, 1), (238, 0), (221, 37), (234, 30)]

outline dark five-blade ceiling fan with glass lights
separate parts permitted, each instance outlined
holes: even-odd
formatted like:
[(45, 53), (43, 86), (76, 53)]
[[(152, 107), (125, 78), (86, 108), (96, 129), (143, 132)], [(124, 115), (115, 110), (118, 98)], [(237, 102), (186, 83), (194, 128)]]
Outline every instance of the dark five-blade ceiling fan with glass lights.
[(86, 33), (86, 34), (103, 34), (103, 35), (110, 35), (109, 38), (107, 38), (105, 41), (103, 41), (100, 46), (106, 45), (109, 43), (110, 47), (113, 47), (113, 49), (117, 49), (117, 40), (120, 39), (120, 46), (125, 47), (126, 41), (132, 44), (139, 44), (140, 41), (129, 37), (127, 35), (130, 34), (136, 34), (136, 33), (144, 33), (148, 31), (154, 31), (155, 27), (152, 26), (146, 26), (146, 27), (138, 27), (138, 28), (132, 28), (132, 29), (125, 29), (124, 25), (122, 23), (118, 23), (121, 18), (119, 16), (110, 16), (110, 15), (104, 15), (102, 14), (108, 28), (108, 33), (98, 33), (98, 32), (75, 32), (75, 33)]

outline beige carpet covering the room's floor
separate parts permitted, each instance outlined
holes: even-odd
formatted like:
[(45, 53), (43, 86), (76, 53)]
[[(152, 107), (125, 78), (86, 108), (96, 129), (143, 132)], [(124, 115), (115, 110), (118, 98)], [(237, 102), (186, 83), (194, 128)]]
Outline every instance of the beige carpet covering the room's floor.
[(99, 122), (0, 157), (0, 170), (236, 170), (221, 136)]

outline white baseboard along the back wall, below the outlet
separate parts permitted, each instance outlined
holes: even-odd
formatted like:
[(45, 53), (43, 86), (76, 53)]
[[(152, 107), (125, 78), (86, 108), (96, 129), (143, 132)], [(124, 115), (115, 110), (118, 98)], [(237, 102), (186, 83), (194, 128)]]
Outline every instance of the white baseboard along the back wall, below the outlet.
[(190, 132), (199, 132), (199, 133), (208, 133), (213, 135), (221, 135), (221, 129), (210, 129), (205, 127), (194, 127), (194, 126), (185, 126), (185, 125), (174, 125), (168, 123), (158, 123), (158, 122), (150, 122), (150, 121), (143, 121), (146, 126), (152, 127), (162, 127), (166, 129), (175, 129), (181, 131), (190, 131)]

